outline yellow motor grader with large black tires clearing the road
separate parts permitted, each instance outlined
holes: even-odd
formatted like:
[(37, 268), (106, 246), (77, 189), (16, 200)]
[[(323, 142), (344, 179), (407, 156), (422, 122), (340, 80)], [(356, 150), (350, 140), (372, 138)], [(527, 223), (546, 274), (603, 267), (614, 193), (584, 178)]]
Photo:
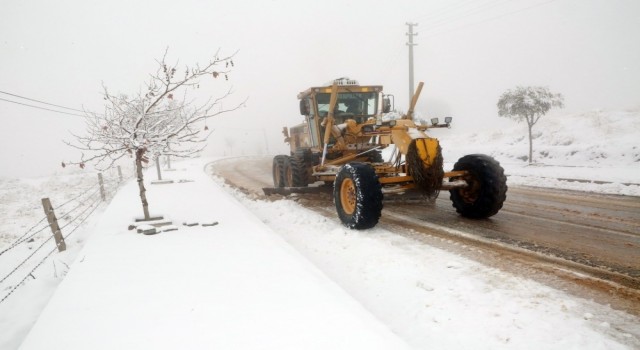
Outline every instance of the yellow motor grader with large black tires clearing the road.
[[(496, 214), (506, 199), (504, 170), (490, 156), (472, 154), (444, 171), (440, 144), (426, 131), (449, 127), (451, 118), (442, 124), (434, 118), (431, 125), (413, 121), (422, 86), (407, 113), (396, 117), (390, 117), (392, 95), (384, 95), (382, 86), (340, 78), (299, 93), (305, 121), (283, 128), (291, 152), (273, 158), (274, 187), (264, 188), (265, 194), (314, 192), (322, 187), (316, 182), (333, 184), (338, 216), (352, 229), (378, 223), (385, 194), (417, 191), (435, 198), (448, 189), (461, 215)], [(382, 150), (390, 146), (385, 160)]]

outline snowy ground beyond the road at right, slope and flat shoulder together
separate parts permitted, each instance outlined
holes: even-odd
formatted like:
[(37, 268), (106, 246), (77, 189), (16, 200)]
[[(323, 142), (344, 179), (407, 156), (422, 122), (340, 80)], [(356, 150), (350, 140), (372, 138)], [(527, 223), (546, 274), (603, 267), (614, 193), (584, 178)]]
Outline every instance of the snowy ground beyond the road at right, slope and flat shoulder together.
[(640, 109), (543, 117), (533, 127), (532, 165), (525, 161), (526, 124), (507, 125), (462, 134), (434, 129), (434, 134), (445, 161), (471, 153), (492, 155), (512, 185), (640, 196)]

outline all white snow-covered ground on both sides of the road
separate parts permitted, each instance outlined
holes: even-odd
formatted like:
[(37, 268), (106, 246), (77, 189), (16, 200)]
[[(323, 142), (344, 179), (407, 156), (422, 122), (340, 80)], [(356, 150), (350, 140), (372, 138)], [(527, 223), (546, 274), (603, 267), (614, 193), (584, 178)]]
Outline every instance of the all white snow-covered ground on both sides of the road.
[[(521, 158), (524, 125), (434, 134), (447, 160), (497, 157), (510, 185), (640, 196), (640, 113), (543, 118), (536, 130), (533, 166)], [(206, 163), (165, 173), (193, 182), (148, 185), (150, 205), (174, 223), (219, 224), (153, 236), (127, 229), (141, 211), (133, 181), (107, 206), (94, 175), (1, 180), (0, 251), (42, 226), (43, 196), (60, 213), (87, 209), (66, 219), (66, 252), (0, 282), (0, 348), (29, 331), (25, 349), (640, 348), (637, 317), (380, 228), (347, 230), (290, 200), (248, 198), (207, 177)], [(53, 248), (47, 230), (0, 255), (0, 278)]]

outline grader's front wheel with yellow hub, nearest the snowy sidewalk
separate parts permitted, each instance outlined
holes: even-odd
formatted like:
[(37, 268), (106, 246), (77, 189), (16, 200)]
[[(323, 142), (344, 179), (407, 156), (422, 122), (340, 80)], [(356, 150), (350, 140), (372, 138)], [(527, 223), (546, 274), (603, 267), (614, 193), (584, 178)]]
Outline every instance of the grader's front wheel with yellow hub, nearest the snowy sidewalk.
[(348, 228), (364, 230), (378, 223), (382, 185), (369, 164), (345, 164), (336, 176), (333, 198), (340, 221)]

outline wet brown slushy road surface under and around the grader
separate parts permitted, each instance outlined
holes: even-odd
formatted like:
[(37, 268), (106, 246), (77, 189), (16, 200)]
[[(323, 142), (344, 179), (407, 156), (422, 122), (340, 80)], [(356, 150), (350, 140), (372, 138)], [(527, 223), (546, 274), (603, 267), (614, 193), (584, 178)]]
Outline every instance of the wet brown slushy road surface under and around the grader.
[[(271, 162), (232, 158), (210, 171), (266, 198)], [(330, 191), (295, 199), (339, 220)], [(455, 212), (448, 191), (432, 201), (387, 196), (378, 225), (640, 315), (640, 197), (510, 186), (497, 215), (471, 220)]]

